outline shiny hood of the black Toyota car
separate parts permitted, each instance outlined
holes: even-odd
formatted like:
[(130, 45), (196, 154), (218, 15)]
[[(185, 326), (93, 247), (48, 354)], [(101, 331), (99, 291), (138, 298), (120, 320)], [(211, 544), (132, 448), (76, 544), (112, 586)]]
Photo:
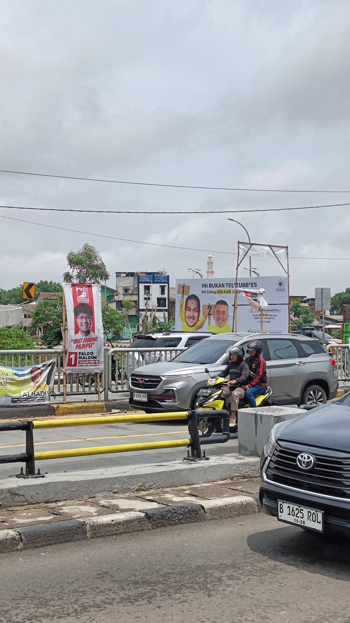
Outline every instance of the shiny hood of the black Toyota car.
[(350, 452), (350, 407), (325, 404), (277, 427), (276, 440)]

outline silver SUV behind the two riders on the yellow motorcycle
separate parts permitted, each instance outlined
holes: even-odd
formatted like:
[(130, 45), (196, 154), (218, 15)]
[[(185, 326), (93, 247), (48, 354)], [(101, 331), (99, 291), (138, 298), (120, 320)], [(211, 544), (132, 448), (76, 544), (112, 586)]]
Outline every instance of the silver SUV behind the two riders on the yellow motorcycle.
[(252, 337), (264, 348), (267, 385), (277, 404), (321, 404), (336, 397), (335, 362), (317, 340), (291, 333), (222, 333), (190, 346), (172, 361), (152, 363), (132, 372), (129, 403), (146, 413), (187, 411), (195, 406), (198, 389), (228, 363), (227, 350), (245, 347)]

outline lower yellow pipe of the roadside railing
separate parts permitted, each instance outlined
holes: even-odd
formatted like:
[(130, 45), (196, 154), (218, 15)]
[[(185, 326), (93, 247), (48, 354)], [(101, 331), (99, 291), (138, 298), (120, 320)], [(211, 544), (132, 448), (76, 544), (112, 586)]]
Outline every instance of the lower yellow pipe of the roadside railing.
[(51, 452), (35, 452), (34, 460), (68, 459), (69, 457), (87, 457), (92, 454), (109, 454), (112, 452), (135, 452), (136, 450), (157, 450), (160, 448), (178, 448), (190, 445), (190, 439), (175, 439), (172, 441), (150, 441), (144, 444), (100, 445), (91, 448), (75, 450), (52, 450)]

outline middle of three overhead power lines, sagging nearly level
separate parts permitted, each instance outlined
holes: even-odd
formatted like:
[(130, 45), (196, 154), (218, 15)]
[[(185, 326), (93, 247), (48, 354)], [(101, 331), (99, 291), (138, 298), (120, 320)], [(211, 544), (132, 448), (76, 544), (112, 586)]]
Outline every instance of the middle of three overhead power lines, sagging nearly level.
[(89, 212), (91, 214), (246, 214), (246, 212), (285, 212), (289, 210), (312, 210), (317, 207), (350, 206), (350, 203), (330, 203), (324, 206), (298, 206), (298, 207), (267, 207), (266, 209), (254, 208), (251, 210), (77, 210), (73, 207), (26, 207), (26, 206), (0, 206), (10, 210), (39, 210), (44, 212)]

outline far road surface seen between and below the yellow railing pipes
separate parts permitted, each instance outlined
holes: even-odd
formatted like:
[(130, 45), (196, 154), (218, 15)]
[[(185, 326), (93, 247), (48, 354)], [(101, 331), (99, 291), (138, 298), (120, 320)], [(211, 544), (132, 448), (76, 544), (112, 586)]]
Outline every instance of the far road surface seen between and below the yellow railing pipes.
[[(86, 448), (100, 445), (133, 444), (149, 441), (187, 439), (188, 427), (185, 421), (149, 422), (148, 424), (106, 424), (98, 426), (77, 426), (71, 428), (34, 430), (34, 449), (37, 452)], [(237, 435), (231, 435), (226, 444), (209, 445), (206, 454), (219, 455), (238, 451)], [(0, 455), (25, 452), (25, 433), (1, 432)], [(70, 459), (37, 461), (42, 473), (74, 472), (76, 470), (113, 467), (113, 465), (140, 465), (182, 460), (187, 455), (185, 447), (102, 454)], [(0, 478), (19, 473), (21, 464), (0, 464)]]

